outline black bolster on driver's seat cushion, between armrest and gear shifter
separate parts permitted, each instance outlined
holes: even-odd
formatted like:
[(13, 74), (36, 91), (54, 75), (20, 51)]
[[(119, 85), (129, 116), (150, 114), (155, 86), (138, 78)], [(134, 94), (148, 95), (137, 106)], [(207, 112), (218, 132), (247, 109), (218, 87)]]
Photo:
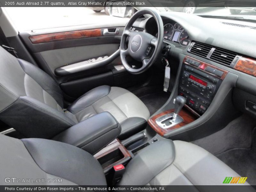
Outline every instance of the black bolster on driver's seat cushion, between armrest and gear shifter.
[(122, 132), (118, 136), (118, 139), (123, 140), (130, 135), (134, 135), (145, 129), (147, 121), (141, 117), (130, 117), (124, 120), (120, 125), (122, 127)]

